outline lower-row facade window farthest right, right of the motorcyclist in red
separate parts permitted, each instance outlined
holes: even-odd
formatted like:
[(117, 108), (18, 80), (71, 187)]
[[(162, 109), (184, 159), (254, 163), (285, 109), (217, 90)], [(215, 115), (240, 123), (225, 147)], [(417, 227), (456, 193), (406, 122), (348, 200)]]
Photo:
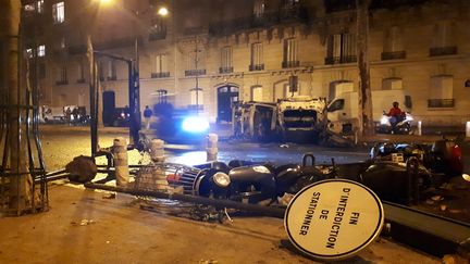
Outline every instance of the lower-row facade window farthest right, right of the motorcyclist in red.
[(428, 108), (454, 108), (454, 76), (433, 76), (430, 85)]

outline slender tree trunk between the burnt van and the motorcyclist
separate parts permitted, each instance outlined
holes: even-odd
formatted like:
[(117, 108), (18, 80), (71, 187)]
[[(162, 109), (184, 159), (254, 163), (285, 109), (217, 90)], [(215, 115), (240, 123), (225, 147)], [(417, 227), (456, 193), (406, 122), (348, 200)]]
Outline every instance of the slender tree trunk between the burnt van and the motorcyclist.
[(357, 9), (357, 53), (359, 68), (359, 133), (361, 136), (374, 134), (372, 120), (372, 92), (368, 60), (369, 5), (371, 0), (356, 0)]

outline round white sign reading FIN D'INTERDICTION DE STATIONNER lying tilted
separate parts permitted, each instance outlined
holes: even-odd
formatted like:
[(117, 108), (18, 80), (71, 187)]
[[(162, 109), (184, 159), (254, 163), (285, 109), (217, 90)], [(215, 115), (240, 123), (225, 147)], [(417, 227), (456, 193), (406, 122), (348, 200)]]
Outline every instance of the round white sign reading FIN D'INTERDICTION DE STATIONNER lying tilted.
[(381, 232), (384, 212), (379, 197), (347, 179), (329, 179), (300, 190), (284, 216), (289, 240), (320, 260), (355, 255)]

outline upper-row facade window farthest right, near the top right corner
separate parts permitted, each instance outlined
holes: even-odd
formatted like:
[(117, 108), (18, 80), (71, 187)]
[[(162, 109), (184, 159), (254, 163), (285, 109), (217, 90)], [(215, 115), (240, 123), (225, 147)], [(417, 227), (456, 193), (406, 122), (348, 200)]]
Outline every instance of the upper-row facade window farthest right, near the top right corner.
[(430, 56), (457, 54), (453, 29), (453, 24), (448, 21), (440, 22), (434, 26)]

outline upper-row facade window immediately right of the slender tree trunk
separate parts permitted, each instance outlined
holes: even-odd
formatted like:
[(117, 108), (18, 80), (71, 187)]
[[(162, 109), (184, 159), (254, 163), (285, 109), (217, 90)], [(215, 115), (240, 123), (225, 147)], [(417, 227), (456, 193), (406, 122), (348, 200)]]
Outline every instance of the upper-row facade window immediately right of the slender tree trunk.
[(384, 32), (382, 60), (398, 60), (406, 58), (401, 36), (401, 28), (397, 26), (393, 26)]

